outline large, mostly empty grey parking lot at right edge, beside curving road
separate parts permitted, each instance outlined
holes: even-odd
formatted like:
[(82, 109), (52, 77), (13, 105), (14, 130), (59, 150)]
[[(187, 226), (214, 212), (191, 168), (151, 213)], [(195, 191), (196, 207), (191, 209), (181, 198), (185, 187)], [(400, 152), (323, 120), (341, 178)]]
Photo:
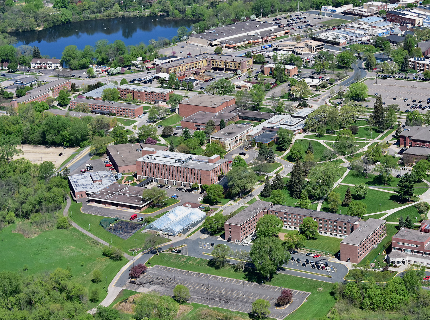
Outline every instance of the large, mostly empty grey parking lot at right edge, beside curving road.
[[(412, 104), (421, 104), (422, 108), (429, 107), (427, 104), (427, 99), (430, 98), (430, 82), (416, 82), (407, 81), (402, 79), (375, 79), (366, 80), (365, 84), (369, 88), (369, 95), (374, 96), (375, 94), (381, 94), (383, 103), (388, 104), (398, 104), (401, 112), (406, 110), (418, 111), (420, 113), (425, 113), (424, 109), (411, 109)], [(395, 98), (395, 100), (393, 100)], [(407, 98), (407, 101), (404, 101)], [(373, 108), (375, 104), (375, 98), (369, 98), (371, 102), (363, 102), (369, 108)], [(415, 102), (412, 102), (416, 100)], [(421, 101), (421, 102), (420, 102)], [(409, 104), (409, 106), (408, 106)], [(427, 108), (428, 109), (428, 108)]]

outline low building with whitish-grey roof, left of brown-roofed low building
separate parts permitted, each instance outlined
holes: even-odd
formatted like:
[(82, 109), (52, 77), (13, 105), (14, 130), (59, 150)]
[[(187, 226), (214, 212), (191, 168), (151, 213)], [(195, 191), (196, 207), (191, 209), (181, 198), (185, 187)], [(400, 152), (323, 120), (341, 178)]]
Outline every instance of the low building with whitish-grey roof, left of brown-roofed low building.
[(69, 176), (72, 194), (75, 198), (86, 198), (100, 189), (117, 182), (112, 171), (85, 172)]

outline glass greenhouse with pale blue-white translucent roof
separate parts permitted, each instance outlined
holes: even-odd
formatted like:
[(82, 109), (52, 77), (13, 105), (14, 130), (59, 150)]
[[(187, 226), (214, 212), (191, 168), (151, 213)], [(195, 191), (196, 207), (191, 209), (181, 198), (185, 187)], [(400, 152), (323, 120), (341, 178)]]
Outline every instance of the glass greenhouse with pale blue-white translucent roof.
[(176, 206), (168, 213), (163, 214), (145, 229), (178, 235), (183, 230), (189, 230), (196, 222), (206, 216), (202, 210), (193, 207)]

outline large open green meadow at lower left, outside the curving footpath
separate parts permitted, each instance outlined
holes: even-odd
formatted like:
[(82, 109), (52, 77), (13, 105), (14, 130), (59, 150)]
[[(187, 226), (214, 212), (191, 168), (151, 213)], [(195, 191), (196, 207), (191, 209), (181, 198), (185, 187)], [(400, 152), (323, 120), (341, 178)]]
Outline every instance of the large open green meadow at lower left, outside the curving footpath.
[[(110, 283), (117, 272), (126, 264), (126, 259), (113, 261), (101, 255), (102, 247), (98, 242), (75, 228), (68, 230), (47, 230), (34, 238), (24, 238), (19, 233), (12, 233), (15, 225), (7, 226), (1, 235), (1, 270), (40, 274), (54, 271), (56, 268), (71, 268), (71, 281), (81, 283), (88, 294), (98, 288), (100, 300), (89, 303), (93, 308), (106, 296), (105, 282), (92, 283), (92, 271), (101, 271), (102, 278)], [(13, 258), (12, 258), (13, 257)], [(22, 267), (28, 265), (27, 271)]]

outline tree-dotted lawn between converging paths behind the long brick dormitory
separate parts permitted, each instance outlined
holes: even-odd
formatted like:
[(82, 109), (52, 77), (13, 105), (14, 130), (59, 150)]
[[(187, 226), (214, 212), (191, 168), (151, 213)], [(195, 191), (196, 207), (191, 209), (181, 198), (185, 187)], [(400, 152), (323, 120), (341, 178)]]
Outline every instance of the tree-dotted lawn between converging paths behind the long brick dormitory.
[[(335, 192), (340, 194), (341, 201), (345, 198), (345, 193), (347, 192), (348, 186), (339, 185), (334, 189)], [(351, 188), (351, 194), (354, 198), (354, 188)], [(388, 193), (384, 191), (378, 191), (374, 189), (369, 189), (369, 192), (366, 195), (366, 198), (359, 200), (360, 202), (367, 205), (367, 213), (379, 212), (382, 210), (390, 210), (397, 207), (401, 207), (406, 203), (399, 197), (399, 195), (394, 193)], [(398, 204), (397, 202), (401, 202)], [(381, 204), (381, 210), (379, 210), (379, 205)], [(322, 204), (322, 210), (328, 211), (328, 203), (324, 201)], [(342, 212), (341, 212), (342, 211)], [(348, 207), (339, 206), (339, 210), (337, 213), (348, 214)]]

